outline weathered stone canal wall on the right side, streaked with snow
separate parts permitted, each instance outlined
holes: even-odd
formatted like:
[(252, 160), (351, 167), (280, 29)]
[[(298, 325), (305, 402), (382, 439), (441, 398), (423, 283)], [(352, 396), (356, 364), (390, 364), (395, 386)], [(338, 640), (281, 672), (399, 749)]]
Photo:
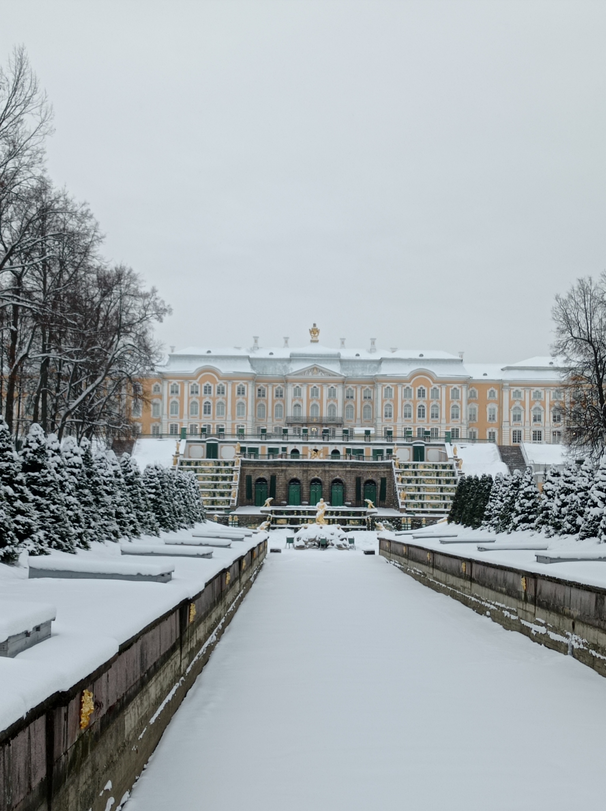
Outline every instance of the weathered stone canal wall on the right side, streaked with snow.
[(606, 589), (406, 541), (379, 539), (379, 554), (424, 586), (606, 676)]

